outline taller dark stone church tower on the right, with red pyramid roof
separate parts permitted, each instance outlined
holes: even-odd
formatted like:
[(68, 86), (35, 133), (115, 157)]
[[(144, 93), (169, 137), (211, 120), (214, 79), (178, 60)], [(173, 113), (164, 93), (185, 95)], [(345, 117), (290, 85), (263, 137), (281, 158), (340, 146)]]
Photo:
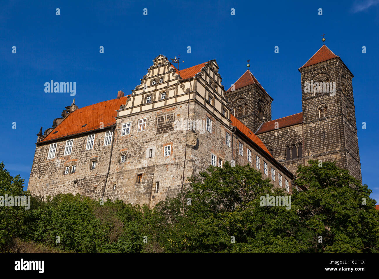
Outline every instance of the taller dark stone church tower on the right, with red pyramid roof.
[(301, 68), (304, 155), (336, 161), (362, 181), (353, 74), (323, 45)]

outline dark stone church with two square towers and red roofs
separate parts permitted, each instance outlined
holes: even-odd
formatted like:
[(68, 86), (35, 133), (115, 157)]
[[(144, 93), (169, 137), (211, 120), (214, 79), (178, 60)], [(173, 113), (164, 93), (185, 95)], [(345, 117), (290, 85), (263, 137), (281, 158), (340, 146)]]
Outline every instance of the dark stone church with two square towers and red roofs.
[(302, 112), (271, 120), (273, 98), (247, 70), (225, 93), (233, 115), (293, 174), (309, 159), (335, 161), (362, 182), (353, 74), (325, 45), (299, 72)]

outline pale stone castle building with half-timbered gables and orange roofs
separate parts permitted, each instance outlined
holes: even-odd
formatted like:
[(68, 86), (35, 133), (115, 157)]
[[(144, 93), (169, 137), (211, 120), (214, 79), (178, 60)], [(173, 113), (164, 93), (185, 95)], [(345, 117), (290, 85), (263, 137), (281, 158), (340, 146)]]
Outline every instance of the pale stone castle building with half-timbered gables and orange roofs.
[(188, 186), (188, 177), (229, 161), (251, 164), (291, 194), (293, 173), (254, 134), (257, 123), (230, 112), (218, 71), (216, 60), (178, 71), (159, 55), (131, 95), (119, 91), (82, 108), (74, 99), (37, 134), (28, 190), (153, 207)]

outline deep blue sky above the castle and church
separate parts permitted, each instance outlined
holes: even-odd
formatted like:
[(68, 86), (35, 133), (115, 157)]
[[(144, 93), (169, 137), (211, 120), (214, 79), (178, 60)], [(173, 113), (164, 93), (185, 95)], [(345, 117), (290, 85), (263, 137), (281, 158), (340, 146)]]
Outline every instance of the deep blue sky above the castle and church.
[(182, 68), (216, 59), (226, 89), (250, 59), (250, 70), (274, 98), (272, 119), (301, 112), (298, 68), (322, 46), (325, 33), (326, 45), (355, 76), (362, 178), (379, 202), (378, 27), (378, 0), (1, 2), (0, 161), (27, 186), (39, 128), (51, 127), (73, 99), (45, 93), (45, 82), (76, 82), (75, 103), (88, 106), (116, 98), (118, 90), (130, 93), (159, 54), (180, 54)]

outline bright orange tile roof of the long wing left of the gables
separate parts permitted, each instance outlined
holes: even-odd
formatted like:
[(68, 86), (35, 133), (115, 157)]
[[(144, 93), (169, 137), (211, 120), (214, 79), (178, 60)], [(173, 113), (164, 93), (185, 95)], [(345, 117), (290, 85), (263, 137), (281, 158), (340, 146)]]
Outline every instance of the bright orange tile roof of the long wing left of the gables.
[[(71, 112), (56, 128), (48, 134), (45, 139), (39, 141), (58, 139), (60, 137), (89, 132), (100, 128), (100, 122), (104, 123), (104, 128), (116, 124), (116, 110), (125, 104), (128, 96), (119, 99), (99, 102), (91, 106), (82, 107)], [(83, 125), (86, 125), (83, 127)]]

